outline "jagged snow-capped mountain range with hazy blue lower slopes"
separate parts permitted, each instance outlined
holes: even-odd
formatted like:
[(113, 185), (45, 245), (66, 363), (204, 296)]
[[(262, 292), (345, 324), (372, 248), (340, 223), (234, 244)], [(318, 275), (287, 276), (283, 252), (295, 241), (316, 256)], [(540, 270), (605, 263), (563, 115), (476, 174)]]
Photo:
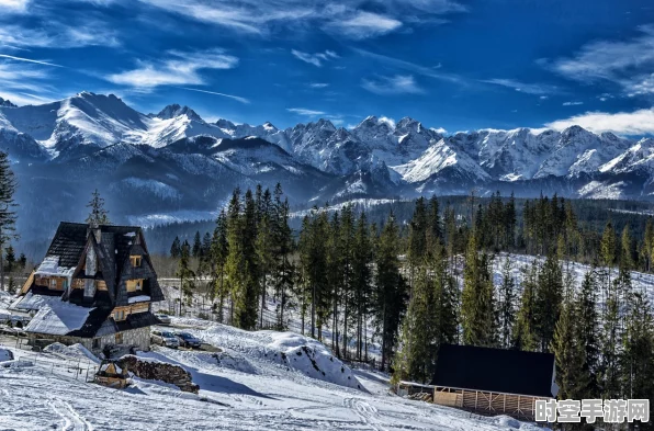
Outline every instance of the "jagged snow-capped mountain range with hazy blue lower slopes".
[(369, 116), (351, 128), (318, 120), (279, 129), (204, 121), (171, 104), (143, 114), (81, 92), (42, 105), (0, 99), (0, 148), (31, 230), (86, 214), (99, 189), (128, 223), (211, 218), (235, 186), (281, 182), (295, 207), (426, 194), (650, 200), (654, 140), (517, 128), (444, 135), (419, 121)]

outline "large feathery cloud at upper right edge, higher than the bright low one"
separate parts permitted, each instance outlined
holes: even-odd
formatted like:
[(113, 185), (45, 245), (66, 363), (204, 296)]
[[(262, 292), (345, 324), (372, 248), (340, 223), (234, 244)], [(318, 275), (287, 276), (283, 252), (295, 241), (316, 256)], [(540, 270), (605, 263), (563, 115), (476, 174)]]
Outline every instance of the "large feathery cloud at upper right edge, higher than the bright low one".
[(654, 93), (654, 25), (627, 41), (597, 41), (584, 45), (573, 57), (541, 64), (579, 82), (611, 81), (627, 95)]

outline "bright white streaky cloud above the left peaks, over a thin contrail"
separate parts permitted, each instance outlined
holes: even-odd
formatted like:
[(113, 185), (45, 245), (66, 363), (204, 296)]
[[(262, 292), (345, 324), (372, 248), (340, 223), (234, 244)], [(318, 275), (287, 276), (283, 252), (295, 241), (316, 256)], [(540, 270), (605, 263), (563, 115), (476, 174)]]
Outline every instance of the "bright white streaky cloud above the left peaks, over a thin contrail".
[(167, 54), (165, 60), (142, 60), (138, 68), (109, 75), (106, 79), (113, 83), (140, 88), (199, 86), (205, 83), (200, 70), (232, 69), (238, 65), (238, 58), (224, 54), (222, 49), (194, 53), (169, 50)]

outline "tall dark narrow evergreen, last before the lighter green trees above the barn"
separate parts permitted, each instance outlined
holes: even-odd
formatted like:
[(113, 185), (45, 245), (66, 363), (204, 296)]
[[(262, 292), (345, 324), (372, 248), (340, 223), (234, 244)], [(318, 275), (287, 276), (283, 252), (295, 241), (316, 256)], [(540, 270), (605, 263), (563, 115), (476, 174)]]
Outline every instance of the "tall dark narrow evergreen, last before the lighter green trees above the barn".
[(407, 290), (399, 270), (399, 229), (391, 212), (375, 248), (374, 320), (382, 340), (381, 370), (392, 361)]

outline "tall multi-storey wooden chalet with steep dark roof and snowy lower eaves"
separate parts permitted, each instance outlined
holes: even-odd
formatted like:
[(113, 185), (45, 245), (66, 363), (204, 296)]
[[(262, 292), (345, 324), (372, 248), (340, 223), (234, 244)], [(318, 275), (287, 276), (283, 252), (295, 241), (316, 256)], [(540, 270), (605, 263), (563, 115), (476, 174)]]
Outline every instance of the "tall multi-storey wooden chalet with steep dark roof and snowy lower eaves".
[(154, 302), (164, 300), (140, 227), (60, 223), (12, 308), (36, 311), (35, 340), (148, 350)]

